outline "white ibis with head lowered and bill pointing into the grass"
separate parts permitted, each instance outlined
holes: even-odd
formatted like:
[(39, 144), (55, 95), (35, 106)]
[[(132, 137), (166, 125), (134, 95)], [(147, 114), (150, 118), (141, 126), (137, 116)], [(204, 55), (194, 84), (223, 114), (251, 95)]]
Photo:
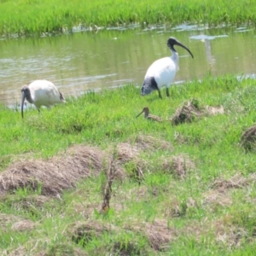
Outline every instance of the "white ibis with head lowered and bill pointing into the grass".
[(55, 87), (55, 84), (47, 80), (35, 80), (29, 85), (23, 85), (21, 88), (21, 116), (23, 118), (23, 105), (26, 98), (27, 102), (34, 104), (40, 112), (40, 107), (50, 108), (57, 103), (65, 102), (61, 92)]

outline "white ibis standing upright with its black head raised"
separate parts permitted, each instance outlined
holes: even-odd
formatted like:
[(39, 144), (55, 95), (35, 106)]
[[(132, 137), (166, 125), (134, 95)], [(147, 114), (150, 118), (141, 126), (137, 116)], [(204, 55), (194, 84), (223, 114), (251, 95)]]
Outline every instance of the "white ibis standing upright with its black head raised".
[(148, 71), (145, 75), (143, 82), (143, 88), (141, 95), (148, 95), (153, 90), (158, 90), (160, 98), (160, 88), (166, 85), (166, 96), (170, 96), (169, 87), (172, 80), (175, 78), (175, 74), (178, 71), (178, 54), (174, 45), (178, 45), (188, 50), (189, 54), (194, 58), (190, 50), (183, 44), (177, 41), (176, 38), (169, 38), (167, 40), (167, 46), (171, 49), (172, 55), (170, 57), (161, 58), (148, 67)]

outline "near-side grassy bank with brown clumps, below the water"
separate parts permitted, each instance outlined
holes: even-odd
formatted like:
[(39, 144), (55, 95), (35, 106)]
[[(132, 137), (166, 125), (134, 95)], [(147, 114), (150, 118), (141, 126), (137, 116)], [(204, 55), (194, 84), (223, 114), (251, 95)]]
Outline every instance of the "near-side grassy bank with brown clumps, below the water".
[[(1, 255), (254, 255), (255, 85), (209, 76), (160, 100), (129, 84), (25, 119), (2, 107)], [(136, 119), (145, 106), (165, 121)]]

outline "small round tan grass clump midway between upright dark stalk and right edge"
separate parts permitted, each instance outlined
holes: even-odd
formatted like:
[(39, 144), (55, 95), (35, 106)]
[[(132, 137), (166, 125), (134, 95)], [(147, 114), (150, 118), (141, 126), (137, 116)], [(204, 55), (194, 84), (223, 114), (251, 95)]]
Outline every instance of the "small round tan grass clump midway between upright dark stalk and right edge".
[(195, 163), (189, 159), (189, 156), (180, 154), (174, 155), (170, 159), (165, 159), (161, 168), (164, 172), (183, 179), (190, 170), (195, 169)]

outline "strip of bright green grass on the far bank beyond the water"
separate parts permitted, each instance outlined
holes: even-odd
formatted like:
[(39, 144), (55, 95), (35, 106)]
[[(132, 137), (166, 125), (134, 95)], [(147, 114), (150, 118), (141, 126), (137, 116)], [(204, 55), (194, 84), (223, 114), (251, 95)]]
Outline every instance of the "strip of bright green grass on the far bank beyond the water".
[(0, 1), (0, 34), (40, 34), (62, 32), (81, 24), (124, 26), (141, 24), (181, 24), (184, 21), (216, 26), (220, 24), (255, 25), (255, 1)]

